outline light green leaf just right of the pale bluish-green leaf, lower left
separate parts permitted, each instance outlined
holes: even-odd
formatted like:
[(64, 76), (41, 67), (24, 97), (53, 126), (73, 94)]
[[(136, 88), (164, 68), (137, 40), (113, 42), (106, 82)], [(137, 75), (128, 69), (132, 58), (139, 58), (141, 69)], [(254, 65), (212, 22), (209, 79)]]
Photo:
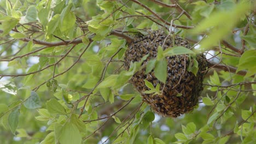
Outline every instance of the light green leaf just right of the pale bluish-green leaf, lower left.
[(56, 100), (50, 99), (46, 102), (46, 107), (51, 115), (66, 115), (65, 108)]

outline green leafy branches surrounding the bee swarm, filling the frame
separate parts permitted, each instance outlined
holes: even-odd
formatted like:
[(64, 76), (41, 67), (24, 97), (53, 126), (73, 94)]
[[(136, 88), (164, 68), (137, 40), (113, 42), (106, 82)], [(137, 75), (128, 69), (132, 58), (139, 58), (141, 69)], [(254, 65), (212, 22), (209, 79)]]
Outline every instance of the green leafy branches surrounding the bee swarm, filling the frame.
[[(3, 0), (0, 5), (0, 143), (256, 141), (254, 1)], [(146, 29), (178, 34), (199, 47), (159, 47), (146, 72), (154, 69), (162, 82), (164, 57), (206, 54), (205, 88), (192, 113), (160, 118), (129, 84), (147, 56), (126, 71), (124, 52)], [(160, 93), (159, 85), (145, 82), (146, 93)]]

